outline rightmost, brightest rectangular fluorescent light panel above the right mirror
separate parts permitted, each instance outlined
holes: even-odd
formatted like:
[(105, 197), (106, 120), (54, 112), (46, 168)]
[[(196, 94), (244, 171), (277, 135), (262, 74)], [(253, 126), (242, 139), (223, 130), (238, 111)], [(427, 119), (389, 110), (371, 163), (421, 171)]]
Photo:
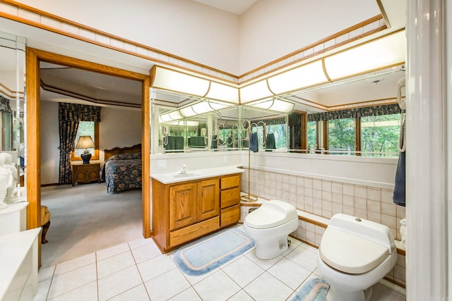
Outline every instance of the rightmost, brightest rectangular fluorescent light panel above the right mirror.
[(326, 57), (326, 72), (331, 80), (337, 80), (401, 64), (406, 46), (405, 31), (396, 32)]

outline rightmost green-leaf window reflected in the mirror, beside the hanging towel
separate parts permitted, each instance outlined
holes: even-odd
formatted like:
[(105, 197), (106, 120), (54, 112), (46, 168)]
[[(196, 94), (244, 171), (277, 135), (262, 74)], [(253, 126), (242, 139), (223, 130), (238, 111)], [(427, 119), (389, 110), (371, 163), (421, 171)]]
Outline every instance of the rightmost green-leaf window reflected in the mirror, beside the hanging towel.
[(362, 117), (362, 156), (393, 156), (391, 153), (398, 154), (399, 131), (400, 114)]

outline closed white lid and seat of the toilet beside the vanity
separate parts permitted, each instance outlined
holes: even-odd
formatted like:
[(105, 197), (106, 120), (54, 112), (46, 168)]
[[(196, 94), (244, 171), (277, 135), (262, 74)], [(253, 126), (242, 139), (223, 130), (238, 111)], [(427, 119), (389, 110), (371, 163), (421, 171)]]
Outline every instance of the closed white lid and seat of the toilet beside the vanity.
[(270, 200), (246, 216), (246, 226), (255, 229), (273, 228), (298, 219), (297, 209), (286, 202)]

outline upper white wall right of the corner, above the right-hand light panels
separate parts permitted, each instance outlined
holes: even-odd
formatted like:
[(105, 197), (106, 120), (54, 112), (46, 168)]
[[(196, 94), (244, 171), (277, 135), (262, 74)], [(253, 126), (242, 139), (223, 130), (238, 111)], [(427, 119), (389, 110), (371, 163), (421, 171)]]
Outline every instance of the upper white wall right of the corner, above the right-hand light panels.
[(240, 74), (379, 13), (376, 1), (369, 0), (257, 1), (240, 18)]

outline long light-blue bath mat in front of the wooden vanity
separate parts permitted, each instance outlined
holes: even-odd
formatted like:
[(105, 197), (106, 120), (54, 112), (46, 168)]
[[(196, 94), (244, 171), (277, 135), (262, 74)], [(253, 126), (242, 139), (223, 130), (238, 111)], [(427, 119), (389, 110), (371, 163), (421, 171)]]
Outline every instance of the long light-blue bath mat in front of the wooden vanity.
[(174, 261), (185, 274), (200, 276), (254, 247), (256, 241), (239, 229), (227, 229), (179, 248)]

